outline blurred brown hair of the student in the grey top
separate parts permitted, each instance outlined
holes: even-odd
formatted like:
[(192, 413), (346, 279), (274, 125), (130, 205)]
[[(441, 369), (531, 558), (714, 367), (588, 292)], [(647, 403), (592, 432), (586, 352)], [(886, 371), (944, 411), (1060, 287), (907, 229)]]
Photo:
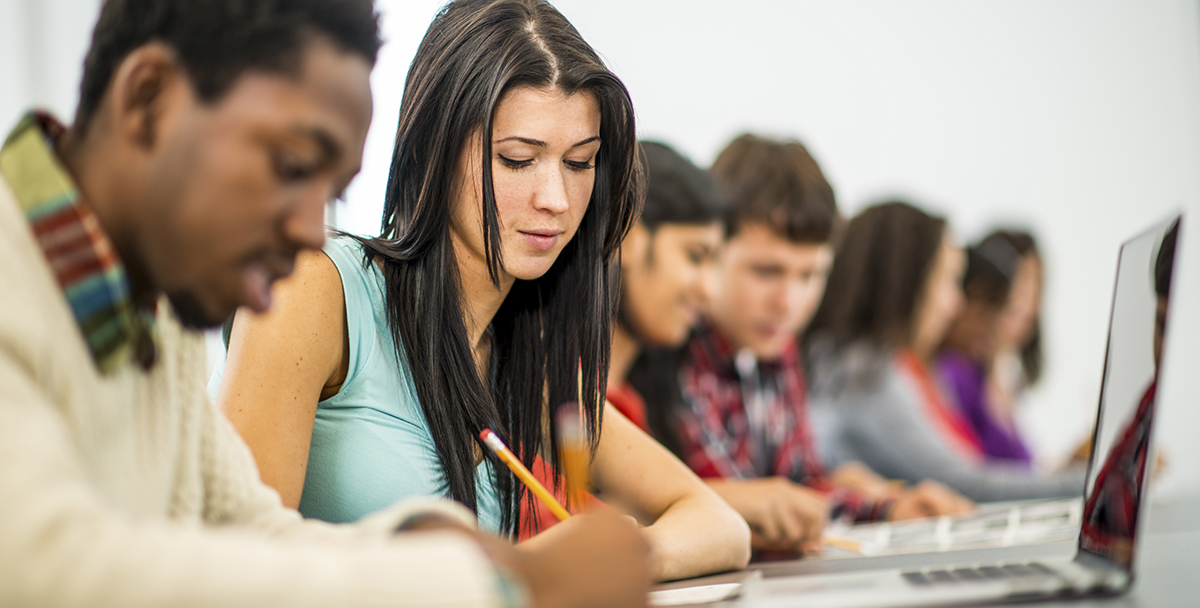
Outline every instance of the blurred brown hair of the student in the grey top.
[(806, 337), (836, 345), (908, 344), (917, 302), (934, 269), (946, 219), (899, 200), (870, 206), (846, 225), (824, 299)]

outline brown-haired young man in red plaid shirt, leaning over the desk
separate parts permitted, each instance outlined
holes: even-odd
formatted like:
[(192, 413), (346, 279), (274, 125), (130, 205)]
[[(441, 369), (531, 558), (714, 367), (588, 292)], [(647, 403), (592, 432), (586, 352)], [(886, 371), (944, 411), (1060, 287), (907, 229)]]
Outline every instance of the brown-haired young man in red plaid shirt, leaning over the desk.
[(839, 219), (808, 150), (745, 134), (712, 174), (731, 206), (708, 314), (682, 351), (647, 351), (630, 374), (655, 435), (746, 519), (756, 549), (817, 550), (830, 514), (964, 508), (932, 483), (893, 495), (860, 466), (841, 472), (874, 492), (847, 488), (817, 458), (797, 333), (821, 300)]

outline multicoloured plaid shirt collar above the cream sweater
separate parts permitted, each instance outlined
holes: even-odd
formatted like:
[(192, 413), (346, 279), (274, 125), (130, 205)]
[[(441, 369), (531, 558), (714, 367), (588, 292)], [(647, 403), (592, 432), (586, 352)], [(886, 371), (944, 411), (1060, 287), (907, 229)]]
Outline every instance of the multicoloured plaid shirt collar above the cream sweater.
[(92, 360), (104, 373), (133, 360), (150, 368), (157, 350), (154, 308), (133, 303), (125, 265), (59, 161), (64, 127), (28, 114), (0, 148), (0, 173), (25, 212)]

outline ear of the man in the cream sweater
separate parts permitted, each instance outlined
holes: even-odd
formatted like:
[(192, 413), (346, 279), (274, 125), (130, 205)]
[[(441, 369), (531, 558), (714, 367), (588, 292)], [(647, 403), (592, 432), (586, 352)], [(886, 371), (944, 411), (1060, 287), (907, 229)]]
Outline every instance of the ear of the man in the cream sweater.
[(161, 42), (143, 44), (126, 55), (110, 86), (118, 132), (145, 150), (157, 143), (173, 107), (191, 95), (175, 53)]

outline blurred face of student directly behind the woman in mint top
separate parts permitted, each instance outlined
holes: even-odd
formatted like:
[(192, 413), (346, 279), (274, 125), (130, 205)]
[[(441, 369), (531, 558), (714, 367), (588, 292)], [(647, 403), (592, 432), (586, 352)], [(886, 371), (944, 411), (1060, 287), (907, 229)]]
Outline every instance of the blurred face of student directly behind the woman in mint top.
[(638, 222), (620, 246), (622, 313), (630, 332), (653, 347), (680, 344), (696, 323), (722, 227)]

